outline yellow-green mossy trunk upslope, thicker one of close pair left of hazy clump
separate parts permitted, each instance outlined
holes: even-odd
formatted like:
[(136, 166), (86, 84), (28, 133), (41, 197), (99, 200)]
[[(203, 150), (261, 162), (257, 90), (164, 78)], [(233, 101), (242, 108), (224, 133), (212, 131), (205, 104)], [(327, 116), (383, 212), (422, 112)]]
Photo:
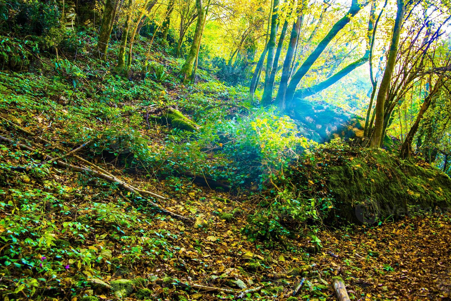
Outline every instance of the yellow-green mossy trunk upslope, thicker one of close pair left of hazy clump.
[(188, 57), (186, 58), (185, 63), (183, 64), (182, 69), (180, 70), (183, 82), (189, 82), (190, 80), (192, 80), (191, 76), (193, 73), (194, 63), (196, 61), (198, 49), (201, 42), (203, 20), (205, 14), (203, 10), (202, 0), (196, 0), (196, 9), (198, 12), (197, 16), (198, 20), (196, 24), (196, 31), (194, 32), (193, 43), (191, 44)]

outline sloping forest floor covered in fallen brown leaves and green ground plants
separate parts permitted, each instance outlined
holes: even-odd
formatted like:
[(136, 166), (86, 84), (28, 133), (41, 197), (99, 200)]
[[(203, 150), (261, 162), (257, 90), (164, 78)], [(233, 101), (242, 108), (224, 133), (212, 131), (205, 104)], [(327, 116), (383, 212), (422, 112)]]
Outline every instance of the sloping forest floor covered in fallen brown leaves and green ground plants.
[[(243, 114), (236, 103), (247, 96), (238, 88), (217, 81), (185, 88), (102, 78), (74, 93), (70, 82), (56, 76), (51, 84), (28, 73), (0, 77), (0, 135), (39, 149), (0, 144), (0, 296), (5, 300), (333, 300), (334, 276), (344, 279), (354, 300), (450, 299), (449, 213), (418, 213), (375, 227), (334, 229), (317, 221), (272, 244), (250, 242), (242, 229), (267, 194), (252, 187), (221, 192), (175, 176), (182, 168), (235, 173), (227, 169), (230, 158), (211, 151), (222, 142), (209, 126), (233, 125)], [(224, 109), (224, 101), (235, 106)], [(149, 122), (149, 110), (163, 105), (201, 112), (196, 121), (208, 125), (205, 133), (193, 143), (186, 133)], [(51, 143), (33, 140), (5, 119)], [(202, 146), (205, 137), (211, 140)], [(124, 182), (166, 196), (152, 200), (196, 222), (170, 218), (147, 198), (43, 159), (46, 153), (80, 164), (56, 147), (74, 149), (85, 142), (91, 144), (78, 155)], [(149, 161), (135, 161), (140, 155)], [(160, 176), (150, 175), (156, 173)], [(312, 185), (305, 182), (299, 181), (299, 190)], [(312, 249), (309, 230), (318, 230), (319, 251)]]

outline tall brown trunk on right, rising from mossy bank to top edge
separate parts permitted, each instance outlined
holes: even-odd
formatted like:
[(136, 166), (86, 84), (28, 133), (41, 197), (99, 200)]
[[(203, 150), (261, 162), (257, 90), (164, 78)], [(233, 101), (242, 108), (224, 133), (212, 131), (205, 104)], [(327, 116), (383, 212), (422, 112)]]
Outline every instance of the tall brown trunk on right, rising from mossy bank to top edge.
[(384, 105), (388, 87), (391, 82), (391, 74), (396, 63), (396, 55), (398, 53), (399, 36), (401, 32), (402, 22), (404, 20), (404, 0), (397, 0), (398, 11), (396, 13), (395, 26), (393, 27), (393, 35), (391, 37), (390, 52), (388, 54), (387, 66), (385, 67), (382, 77), (381, 86), (377, 92), (376, 107), (376, 124), (374, 126), (373, 135), (371, 137), (371, 146), (379, 147), (382, 143), (382, 131), (384, 125)]

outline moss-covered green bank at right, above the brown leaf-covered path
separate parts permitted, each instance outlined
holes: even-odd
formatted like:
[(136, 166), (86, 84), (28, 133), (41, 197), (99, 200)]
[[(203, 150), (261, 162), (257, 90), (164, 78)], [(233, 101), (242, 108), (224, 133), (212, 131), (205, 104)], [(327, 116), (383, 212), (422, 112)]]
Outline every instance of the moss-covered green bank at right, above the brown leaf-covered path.
[(328, 223), (374, 223), (404, 216), (410, 206), (449, 207), (451, 180), (426, 163), (400, 160), (380, 150), (339, 153), (325, 172), (336, 210)]

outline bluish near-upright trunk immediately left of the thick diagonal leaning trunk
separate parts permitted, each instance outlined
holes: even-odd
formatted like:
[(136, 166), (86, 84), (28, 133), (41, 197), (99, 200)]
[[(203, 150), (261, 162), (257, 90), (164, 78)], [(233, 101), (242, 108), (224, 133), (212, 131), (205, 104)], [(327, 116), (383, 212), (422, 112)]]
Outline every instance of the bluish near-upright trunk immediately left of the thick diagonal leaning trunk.
[(279, 108), (281, 109), (282, 112), (284, 112), (286, 108), (285, 93), (286, 87), (288, 86), (288, 79), (290, 77), (291, 60), (293, 59), (293, 55), (295, 53), (296, 42), (298, 41), (299, 37), (299, 28), (301, 26), (303, 18), (303, 15), (300, 14), (299, 9), (298, 14), (299, 16), (296, 19), (295, 24), (293, 24), (293, 29), (291, 30), (290, 43), (288, 44), (288, 50), (286, 51), (285, 61), (283, 63), (282, 68), (281, 82), (279, 84), (279, 91), (277, 91), (276, 96), (276, 102), (278, 103)]

